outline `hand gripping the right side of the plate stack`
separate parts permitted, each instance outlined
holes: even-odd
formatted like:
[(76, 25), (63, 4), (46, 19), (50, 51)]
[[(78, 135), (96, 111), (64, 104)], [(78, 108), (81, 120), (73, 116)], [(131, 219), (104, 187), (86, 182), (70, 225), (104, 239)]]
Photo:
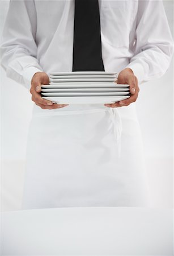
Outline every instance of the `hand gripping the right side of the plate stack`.
[(126, 100), (118, 101), (113, 104), (104, 104), (105, 106), (109, 108), (120, 108), (122, 106), (128, 106), (137, 100), (139, 93), (138, 79), (130, 68), (125, 68), (119, 73), (117, 84), (129, 84), (131, 96)]

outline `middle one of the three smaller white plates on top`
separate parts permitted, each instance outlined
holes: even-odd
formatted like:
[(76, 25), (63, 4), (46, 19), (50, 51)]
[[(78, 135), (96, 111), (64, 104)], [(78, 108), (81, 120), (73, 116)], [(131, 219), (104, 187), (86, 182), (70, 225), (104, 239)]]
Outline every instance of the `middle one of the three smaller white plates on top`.
[(116, 76), (113, 76), (113, 75), (74, 75), (74, 76), (52, 76), (50, 75), (49, 76), (50, 79), (94, 79), (94, 78), (101, 78), (101, 79), (104, 79), (104, 78), (112, 78), (112, 79), (116, 79)]

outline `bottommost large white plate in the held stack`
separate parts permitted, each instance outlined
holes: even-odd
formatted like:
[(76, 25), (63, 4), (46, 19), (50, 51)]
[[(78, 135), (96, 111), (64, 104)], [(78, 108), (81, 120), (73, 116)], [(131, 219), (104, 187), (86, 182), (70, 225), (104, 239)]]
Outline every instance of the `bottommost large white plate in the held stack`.
[(107, 97), (43, 97), (57, 104), (109, 104), (125, 100), (130, 96), (107, 96)]

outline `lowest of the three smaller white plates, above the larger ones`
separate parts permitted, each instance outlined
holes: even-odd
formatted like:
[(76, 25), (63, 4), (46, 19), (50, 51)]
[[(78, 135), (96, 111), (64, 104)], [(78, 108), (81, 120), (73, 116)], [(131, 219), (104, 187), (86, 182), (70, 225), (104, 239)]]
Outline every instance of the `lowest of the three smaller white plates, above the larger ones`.
[(89, 79), (78, 79), (78, 78), (75, 78), (75, 79), (49, 79), (51, 82), (114, 82), (114, 80), (116, 80), (116, 78), (112, 77), (112, 78), (108, 78), (108, 79), (102, 79), (102, 78), (98, 78), (98, 79), (92, 79), (92, 78), (89, 78)]

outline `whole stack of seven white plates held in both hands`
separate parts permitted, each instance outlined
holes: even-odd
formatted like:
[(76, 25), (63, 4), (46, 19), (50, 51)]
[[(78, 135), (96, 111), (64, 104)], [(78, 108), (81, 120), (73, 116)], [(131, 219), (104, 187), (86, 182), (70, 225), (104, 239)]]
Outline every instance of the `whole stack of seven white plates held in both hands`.
[(51, 72), (41, 96), (57, 104), (109, 104), (130, 97), (128, 84), (117, 84), (117, 73)]

